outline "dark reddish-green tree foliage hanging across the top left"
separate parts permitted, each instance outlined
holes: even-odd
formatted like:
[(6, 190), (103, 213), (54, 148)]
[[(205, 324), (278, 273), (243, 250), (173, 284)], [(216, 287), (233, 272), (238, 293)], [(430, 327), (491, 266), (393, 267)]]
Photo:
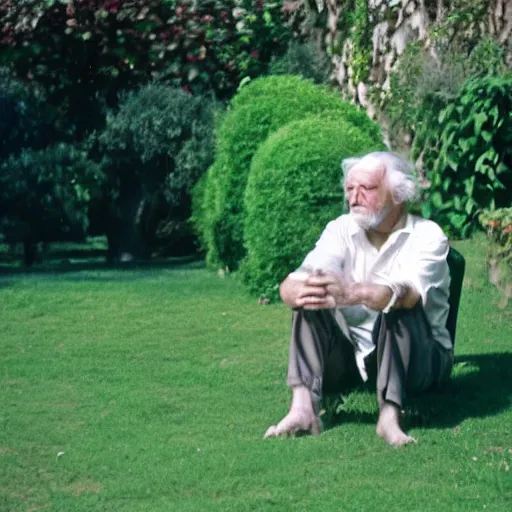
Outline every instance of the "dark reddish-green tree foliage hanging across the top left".
[(281, 2), (6, 0), (0, 64), (41, 84), (75, 138), (101, 125), (118, 92), (150, 79), (229, 98), (290, 37)]

